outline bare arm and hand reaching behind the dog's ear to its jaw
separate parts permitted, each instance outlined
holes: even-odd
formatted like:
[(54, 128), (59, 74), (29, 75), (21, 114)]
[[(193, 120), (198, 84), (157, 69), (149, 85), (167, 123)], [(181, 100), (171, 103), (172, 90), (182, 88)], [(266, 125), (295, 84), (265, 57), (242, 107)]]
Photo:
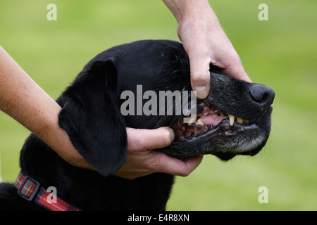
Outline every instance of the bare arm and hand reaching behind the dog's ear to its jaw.
[[(78, 153), (68, 134), (58, 125), (61, 106), (35, 83), (18, 63), (0, 46), (0, 109), (32, 131), (64, 160), (75, 167), (94, 169)], [(202, 157), (177, 160), (156, 148), (168, 146), (174, 139), (173, 129), (127, 128), (128, 158), (115, 174), (135, 179), (154, 172), (187, 176)]]

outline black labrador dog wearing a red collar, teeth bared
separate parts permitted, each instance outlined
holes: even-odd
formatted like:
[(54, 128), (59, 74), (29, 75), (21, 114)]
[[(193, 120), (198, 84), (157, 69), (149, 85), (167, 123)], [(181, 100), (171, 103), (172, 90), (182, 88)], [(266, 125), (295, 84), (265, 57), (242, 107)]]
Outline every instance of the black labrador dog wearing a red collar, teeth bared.
[[(57, 99), (62, 107), (59, 125), (97, 171), (69, 165), (31, 134), (20, 153), (17, 181), (0, 185), (0, 209), (54, 210), (49, 207), (54, 203), (51, 192), (39, 195), (54, 187), (66, 210), (165, 210), (172, 175), (155, 173), (133, 180), (111, 175), (125, 162), (126, 127), (172, 127), (175, 141), (158, 150), (175, 158), (213, 154), (230, 160), (259, 153), (271, 130), (274, 91), (211, 66), (209, 96), (191, 101), (196, 98), (192, 98), (189, 74), (187, 54), (177, 41), (135, 41), (99, 53)], [(151, 92), (145, 96), (146, 91)], [(187, 91), (187, 95), (173, 96), (168, 106), (166, 99), (154, 99), (160, 91)], [(180, 113), (179, 101), (188, 103), (187, 111)], [(155, 105), (162, 102), (161, 108)], [(41, 205), (45, 198), (51, 202)]]

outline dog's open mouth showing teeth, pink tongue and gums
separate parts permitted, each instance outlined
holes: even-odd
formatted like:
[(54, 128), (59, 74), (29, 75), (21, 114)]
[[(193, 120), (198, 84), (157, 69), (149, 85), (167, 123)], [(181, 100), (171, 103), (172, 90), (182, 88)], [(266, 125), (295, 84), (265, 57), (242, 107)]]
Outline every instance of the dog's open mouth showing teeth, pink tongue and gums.
[(231, 136), (251, 125), (249, 120), (224, 113), (215, 106), (202, 101), (197, 102), (197, 117), (193, 117), (187, 123), (183, 122), (183, 119), (184, 117), (178, 118), (172, 126), (175, 131), (174, 143), (194, 141), (200, 136), (205, 136), (204, 134), (218, 130), (220, 127), (225, 136)]

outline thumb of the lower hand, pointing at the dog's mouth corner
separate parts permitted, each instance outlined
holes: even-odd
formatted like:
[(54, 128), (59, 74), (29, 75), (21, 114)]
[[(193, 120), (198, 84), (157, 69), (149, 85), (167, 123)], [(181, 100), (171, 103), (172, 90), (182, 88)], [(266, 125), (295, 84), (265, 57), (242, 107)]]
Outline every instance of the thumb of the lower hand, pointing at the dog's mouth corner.
[(163, 148), (175, 138), (173, 129), (159, 127), (158, 129), (133, 129), (127, 128), (128, 148), (130, 150), (145, 150)]

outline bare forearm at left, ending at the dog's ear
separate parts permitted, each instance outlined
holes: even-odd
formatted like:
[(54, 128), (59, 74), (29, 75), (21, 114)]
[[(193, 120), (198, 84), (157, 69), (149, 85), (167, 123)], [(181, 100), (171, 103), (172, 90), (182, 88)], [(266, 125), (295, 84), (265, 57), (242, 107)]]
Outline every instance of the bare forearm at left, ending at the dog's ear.
[(56, 150), (70, 164), (91, 168), (58, 126), (61, 107), (0, 47), (0, 109)]

